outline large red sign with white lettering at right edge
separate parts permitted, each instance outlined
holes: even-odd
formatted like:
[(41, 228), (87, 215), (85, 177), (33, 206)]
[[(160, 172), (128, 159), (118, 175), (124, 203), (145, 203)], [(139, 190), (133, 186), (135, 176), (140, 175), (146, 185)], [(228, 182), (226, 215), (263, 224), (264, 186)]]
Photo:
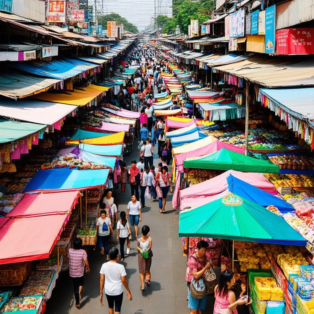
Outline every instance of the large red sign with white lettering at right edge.
[(314, 28), (286, 28), (276, 30), (278, 55), (314, 54)]

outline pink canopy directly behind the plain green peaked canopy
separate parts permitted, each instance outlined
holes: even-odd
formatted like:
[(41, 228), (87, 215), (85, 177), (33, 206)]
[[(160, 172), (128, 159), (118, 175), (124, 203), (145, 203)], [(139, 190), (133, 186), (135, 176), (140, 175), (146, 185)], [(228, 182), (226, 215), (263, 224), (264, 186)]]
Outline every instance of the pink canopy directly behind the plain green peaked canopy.
[(231, 144), (227, 144), (224, 142), (220, 142), (220, 141), (214, 141), (213, 143), (210, 143), (207, 146), (195, 149), (195, 150), (191, 150), (187, 153), (182, 153), (182, 154), (177, 154), (175, 155), (175, 159), (176, 159), (176, 165), (178, 167), (178, 171), (182, 172), (183, 171), (183, 160), (185, 160), (186, 158), (189, 157), (194, 157), (194, 156), (203, 156), (206, 154), (211, 154), (214, 152), (217, 152), (218, 150), (225, 148), (225, 149), (229, 149), (232, 150), (236, 153), (240, 153), (240, 154), (244, 154), (245, 149), (235, 146), (235, 145), (231, 145)]

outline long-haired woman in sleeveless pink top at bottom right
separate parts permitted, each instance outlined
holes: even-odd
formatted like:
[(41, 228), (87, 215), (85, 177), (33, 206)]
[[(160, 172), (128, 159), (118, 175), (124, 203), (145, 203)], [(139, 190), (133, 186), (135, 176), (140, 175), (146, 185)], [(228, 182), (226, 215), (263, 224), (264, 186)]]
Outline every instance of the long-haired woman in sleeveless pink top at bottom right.
[(234, 283), (234, 273), (231, 270), (225, 270), (221, 273), (219, 284), (214, 289), (216, 298), (214, 314), (237, 314), (236, 307), (246, 303), (245, 300), (236, 300), (236, 295), (230, 290)]

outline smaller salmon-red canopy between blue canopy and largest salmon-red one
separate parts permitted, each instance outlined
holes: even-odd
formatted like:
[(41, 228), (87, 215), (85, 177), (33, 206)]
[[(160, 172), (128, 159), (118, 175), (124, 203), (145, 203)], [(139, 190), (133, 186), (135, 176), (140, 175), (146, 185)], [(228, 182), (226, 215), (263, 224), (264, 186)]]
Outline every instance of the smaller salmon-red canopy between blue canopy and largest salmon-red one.
[[(6, 217), (68, 214), (78, 203), (79, 192), (24, 194)], [(47, 226), (47, 228), (50, 226)]]

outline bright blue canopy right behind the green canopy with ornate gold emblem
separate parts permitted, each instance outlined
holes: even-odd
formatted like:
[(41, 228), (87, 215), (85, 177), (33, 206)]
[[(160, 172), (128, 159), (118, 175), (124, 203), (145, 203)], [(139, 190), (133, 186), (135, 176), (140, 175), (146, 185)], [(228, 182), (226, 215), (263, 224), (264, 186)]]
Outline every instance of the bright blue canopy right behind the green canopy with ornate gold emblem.
[(277, 207), (282, 213), (293, 212), (294, 208), (284, 201), (272, 194), (269, 194), (258, 187), (242, 181), (231, 174), (227, 177), (228, 190), (233, 194), (246, 198), (263, 207), (273, 205)]

